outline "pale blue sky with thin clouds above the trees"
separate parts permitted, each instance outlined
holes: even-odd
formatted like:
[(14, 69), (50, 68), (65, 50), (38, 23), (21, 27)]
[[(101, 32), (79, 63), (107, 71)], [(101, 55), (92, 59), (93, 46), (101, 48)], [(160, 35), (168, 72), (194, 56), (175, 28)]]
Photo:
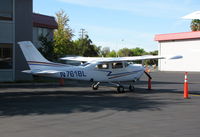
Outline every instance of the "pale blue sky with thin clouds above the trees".
[(191, 20), (181, 17), (200, 10), (199, 5), (199, 0), (33, 0), (33, 11), (55, 16), (64, 10), (73, 39), (83, 28), (97, 46), (154, 51), (156, 34), (190, 31)]

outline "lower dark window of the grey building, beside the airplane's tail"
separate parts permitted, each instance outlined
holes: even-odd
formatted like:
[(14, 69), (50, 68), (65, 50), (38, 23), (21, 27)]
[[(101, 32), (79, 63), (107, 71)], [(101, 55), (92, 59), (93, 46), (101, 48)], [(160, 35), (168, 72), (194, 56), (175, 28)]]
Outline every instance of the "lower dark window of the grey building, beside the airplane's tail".
[(0, 44), (0, 69), (12, 69), (12, 45)]

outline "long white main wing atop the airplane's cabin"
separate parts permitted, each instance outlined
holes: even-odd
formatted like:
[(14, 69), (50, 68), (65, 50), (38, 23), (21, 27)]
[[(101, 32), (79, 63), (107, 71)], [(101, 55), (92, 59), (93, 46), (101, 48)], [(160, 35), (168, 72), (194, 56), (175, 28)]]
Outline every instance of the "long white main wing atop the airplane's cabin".
[(138, 61), (138, 60), (150, 60), (150, 59), (179, 59), (182, 56), (153, 56), (153, 55), (145, 55), (145, 56), (132, 56), (132, 57), (114, 57), (114, 58), (103, 58), (103, 57), (64, 57), (62, 60), (73, 60), (73, 61), (82, 61), (82, 62), (114, 62), (114, 61)]

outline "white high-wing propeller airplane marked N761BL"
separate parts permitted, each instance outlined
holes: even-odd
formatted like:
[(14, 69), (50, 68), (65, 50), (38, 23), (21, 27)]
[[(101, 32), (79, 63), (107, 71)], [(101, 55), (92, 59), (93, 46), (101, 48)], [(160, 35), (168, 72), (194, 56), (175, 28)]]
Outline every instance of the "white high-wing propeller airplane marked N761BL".
[[(30, 70), (22, 72), (32, 75), (93, 82), (92, 88), (97, 90), (100, 83), (110, 83), (117, 87), (118, 93), (124, 92), (123, 81), (135, 82), (145, 73), (140, 64), (130, 64), (131, 61), (147, 59), (166, 59), (161, 56), (135, 56), (135, 57), (65, 57), (63, 60), (85, 62), (79, 66), (50, 62), (45, 59), (30, 41), (18, 42), (30, 67)], [(168, 59), (179, 59), (182, 56), (173, 56)], [(148, 75), (149, 76), (149, 75)], [(150, 77), (150, 76), (149, 76)], [(128, 85), (130, 91), (134, 91), (132, 84)]]

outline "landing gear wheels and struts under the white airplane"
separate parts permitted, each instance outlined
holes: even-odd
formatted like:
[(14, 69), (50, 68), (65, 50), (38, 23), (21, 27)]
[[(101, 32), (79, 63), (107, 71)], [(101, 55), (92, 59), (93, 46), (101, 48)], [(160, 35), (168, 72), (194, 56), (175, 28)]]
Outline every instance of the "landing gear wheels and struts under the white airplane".
[[(114, 86), (117, 87), (117, 93), (125, 93), (125, 88), (128, 89), (131, 92), (135, 91), (135, 87), (133, 85), (124, 85), (123, 86), (123, 85), (118, 84), (118, 83), (109, 83), (109, 84), (114, 85)], [(93, 90), (98, 90), (99, 85), (100, 85), (100, 82), (93, 83), (92, 84), (92, 89)]]

